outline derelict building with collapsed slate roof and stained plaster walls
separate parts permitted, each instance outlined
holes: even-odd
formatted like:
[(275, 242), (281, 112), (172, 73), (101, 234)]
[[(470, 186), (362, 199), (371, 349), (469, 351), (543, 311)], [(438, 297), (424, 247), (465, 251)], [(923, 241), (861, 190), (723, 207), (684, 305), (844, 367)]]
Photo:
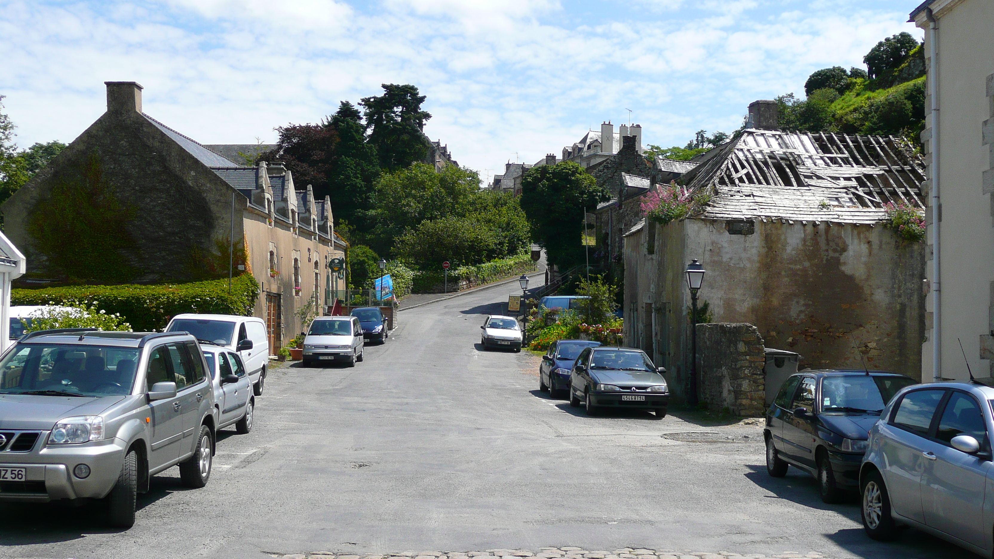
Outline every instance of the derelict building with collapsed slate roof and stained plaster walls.
[[(645, 349), (678, 393), (687, 381), (692, 259), (713, 322), (753, 324), (801, 367), (920, 376), (925, 246), (885, 224), (885, 205), (921, 208), (919, 157), (903, 140), (789, 133), (772, 101), (752, 127), (677, 183), (711, 199), (683, 220), (624, 236), (625, 343)], [(773, 104), (775, 108), (775, 104)]]

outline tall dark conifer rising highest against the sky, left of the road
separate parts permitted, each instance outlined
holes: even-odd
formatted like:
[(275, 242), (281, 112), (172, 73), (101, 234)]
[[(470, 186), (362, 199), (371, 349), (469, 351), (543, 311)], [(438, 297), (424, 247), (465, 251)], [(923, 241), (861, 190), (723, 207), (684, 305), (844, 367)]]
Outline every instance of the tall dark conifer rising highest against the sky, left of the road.
[(422, 131), (431, 117), (421, 110), (425, 96), (411, 85), (384, 84), (380, 96), (363, 97), (369, 143), (377, 148), (380, 166), (389, 171), (423, 161), (430, 142)]

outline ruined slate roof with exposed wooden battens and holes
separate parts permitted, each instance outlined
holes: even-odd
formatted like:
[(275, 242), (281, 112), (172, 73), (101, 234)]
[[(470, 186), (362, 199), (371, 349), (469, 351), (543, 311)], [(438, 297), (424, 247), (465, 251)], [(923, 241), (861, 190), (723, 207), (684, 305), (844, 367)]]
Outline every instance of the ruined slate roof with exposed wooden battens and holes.
[(746, 129), (678, 181), (713, 197), (699, 217), (873, 224), (923, 209), (924, 165), (894, 136)]

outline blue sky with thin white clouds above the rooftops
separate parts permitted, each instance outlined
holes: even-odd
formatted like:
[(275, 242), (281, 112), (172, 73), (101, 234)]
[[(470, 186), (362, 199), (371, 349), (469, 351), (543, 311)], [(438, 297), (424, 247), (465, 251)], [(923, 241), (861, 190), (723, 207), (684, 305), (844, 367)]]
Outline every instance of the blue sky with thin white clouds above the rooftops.
[[(917, 0), (0, 0), (0, 94), (17, 141), (71, 141), (104, 81), (202, 143), (275, 139), (339, 100), (414, 84), (463, 166), (559, 154), (602, 120), (643, 143), (733, 130), (748, 103), (862, 66)], [(517, 155), (516, 155), (517, 154)]]

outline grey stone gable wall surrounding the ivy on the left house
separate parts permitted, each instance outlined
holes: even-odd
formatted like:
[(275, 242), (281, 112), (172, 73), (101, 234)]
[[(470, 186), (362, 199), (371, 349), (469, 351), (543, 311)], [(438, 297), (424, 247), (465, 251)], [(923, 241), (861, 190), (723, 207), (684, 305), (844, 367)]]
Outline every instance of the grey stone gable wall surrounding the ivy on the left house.
[[(229, 238), (235, 190), (137, 111), (107, 111), (0, 206), (5, 234), (27, 257), (28, 278), (59, 278), (27, 225), (53, 186), (79, 180), (91, 154), (98, 156), (118, 201), (137, 212), (127, 224), (135, 247), (126, 251), (131, 265), (143, 271), (136, 281), (190, 280), (191, 251), (216, 252), (215, 241)], [(236, 199), (244, 208), (244, 197)], [(237, 217), (235, 239), (242, 235)]]

